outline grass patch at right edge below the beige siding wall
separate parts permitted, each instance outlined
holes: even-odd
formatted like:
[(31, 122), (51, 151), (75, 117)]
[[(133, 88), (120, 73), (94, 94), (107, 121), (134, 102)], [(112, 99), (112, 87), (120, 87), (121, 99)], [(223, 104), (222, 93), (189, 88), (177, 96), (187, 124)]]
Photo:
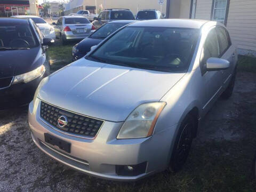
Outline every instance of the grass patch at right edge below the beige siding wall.
[(247, 71), (247, 72), (256, 73), (256, 58), (239, 55), (237, 69), (239, 71)]

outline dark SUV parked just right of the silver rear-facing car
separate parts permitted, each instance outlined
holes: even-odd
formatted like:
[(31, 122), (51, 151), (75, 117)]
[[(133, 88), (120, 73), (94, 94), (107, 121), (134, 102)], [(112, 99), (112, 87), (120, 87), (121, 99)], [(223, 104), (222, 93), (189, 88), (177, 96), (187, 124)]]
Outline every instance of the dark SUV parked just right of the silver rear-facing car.
[(98, 18), (94, 18), (92, 24), (96, 29), (98, 29), (110, 21), (134, 19), (134, 15), (129, 9), (106, 9), (100, 12)]

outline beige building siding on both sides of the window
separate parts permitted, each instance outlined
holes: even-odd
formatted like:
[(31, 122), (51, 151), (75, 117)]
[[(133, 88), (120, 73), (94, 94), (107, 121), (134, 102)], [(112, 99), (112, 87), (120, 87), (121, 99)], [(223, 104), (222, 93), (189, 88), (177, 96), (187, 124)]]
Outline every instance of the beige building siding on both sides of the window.
[[(197, 0), (195, 19), (211, 20), (213, 0)], [(238, 53), (256, 55), (256, 0), (230, 0), (227, 28)]]

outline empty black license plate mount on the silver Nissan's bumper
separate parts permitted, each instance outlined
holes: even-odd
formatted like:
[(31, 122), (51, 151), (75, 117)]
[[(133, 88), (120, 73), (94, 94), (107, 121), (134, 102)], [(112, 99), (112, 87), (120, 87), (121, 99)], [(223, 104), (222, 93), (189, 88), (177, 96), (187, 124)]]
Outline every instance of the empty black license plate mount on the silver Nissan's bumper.
[(50, 143), (53, 146), (58, 146), (60, 149), (70, 153), (71, 143), (54, 137), (49, 133), (44, 133), (44, 140), (45, 142)]

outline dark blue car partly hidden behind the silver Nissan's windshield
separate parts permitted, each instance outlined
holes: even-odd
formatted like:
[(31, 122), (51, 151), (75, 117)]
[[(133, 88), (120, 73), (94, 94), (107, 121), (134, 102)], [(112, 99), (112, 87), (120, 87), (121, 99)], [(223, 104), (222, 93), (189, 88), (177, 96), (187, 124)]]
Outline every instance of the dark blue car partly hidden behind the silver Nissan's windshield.
[(91, 50), (91, 47), (98, 45), (103, 39), (109, 36), (117, 29), (134, 22), (134, 20), (111, 21), (100, 27), (93, 34), (86, 37), (72, 49), (73, 61), (84, 57)]

